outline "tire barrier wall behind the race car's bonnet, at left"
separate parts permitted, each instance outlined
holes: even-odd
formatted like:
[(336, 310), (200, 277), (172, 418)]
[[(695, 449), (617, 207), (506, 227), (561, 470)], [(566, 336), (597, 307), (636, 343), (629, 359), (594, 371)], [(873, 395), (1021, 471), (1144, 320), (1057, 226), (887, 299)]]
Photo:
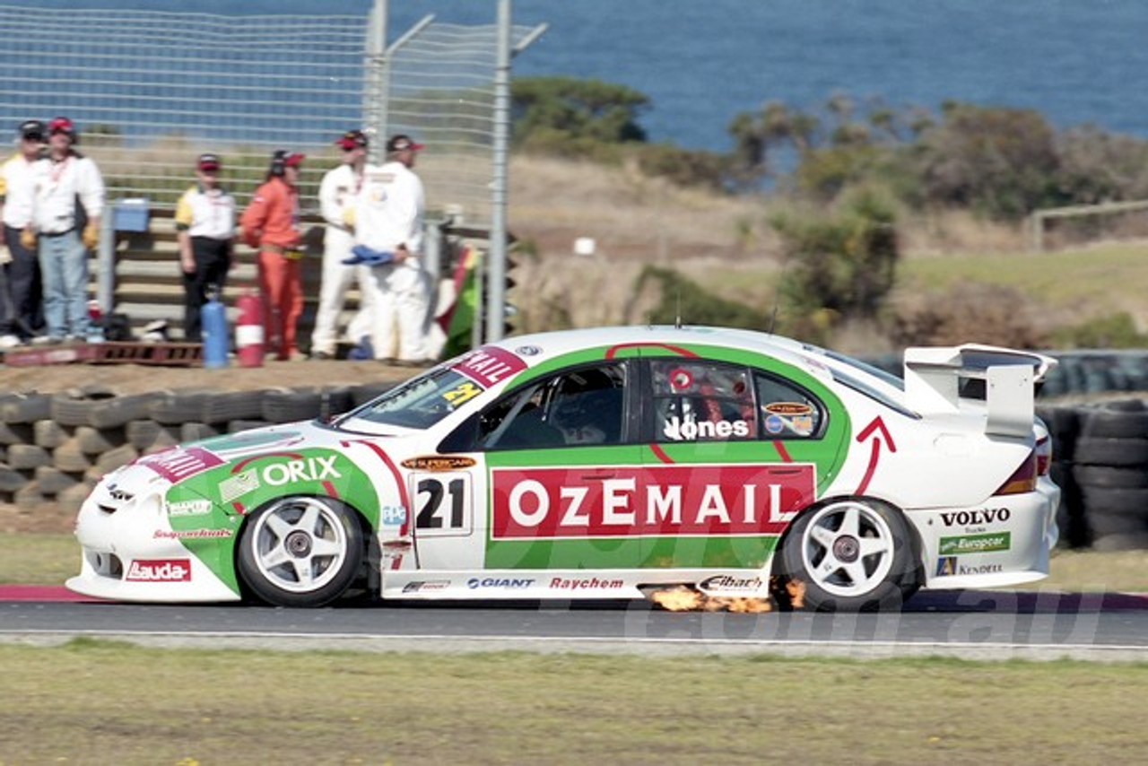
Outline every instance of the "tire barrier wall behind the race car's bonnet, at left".
[(0, 505), (53, 513), (64, 527), (103, 474), (180, 442), (328, 418), (394, 384), (243, 392), (158, 390), (119, 396), (99, 386), (0, 395)]

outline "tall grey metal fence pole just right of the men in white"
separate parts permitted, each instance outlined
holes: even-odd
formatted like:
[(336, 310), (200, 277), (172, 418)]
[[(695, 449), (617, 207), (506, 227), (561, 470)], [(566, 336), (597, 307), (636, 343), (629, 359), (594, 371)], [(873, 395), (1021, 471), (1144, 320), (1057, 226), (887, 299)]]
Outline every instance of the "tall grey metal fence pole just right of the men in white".
[(490, 261), (487, 266), (487, 341), (503, 338), (506, 322), (506, 155), (510, 142), (511, 0), (498, 0)]

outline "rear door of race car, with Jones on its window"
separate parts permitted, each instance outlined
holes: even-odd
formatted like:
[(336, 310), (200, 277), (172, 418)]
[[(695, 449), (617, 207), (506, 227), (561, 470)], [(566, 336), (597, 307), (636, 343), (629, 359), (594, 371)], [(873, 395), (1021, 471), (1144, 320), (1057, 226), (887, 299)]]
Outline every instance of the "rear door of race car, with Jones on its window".
[(643, 386), (642, 564), (762, 566), (838, 461), (824, 405), (775, 371), (697, 357), (649, 358)]

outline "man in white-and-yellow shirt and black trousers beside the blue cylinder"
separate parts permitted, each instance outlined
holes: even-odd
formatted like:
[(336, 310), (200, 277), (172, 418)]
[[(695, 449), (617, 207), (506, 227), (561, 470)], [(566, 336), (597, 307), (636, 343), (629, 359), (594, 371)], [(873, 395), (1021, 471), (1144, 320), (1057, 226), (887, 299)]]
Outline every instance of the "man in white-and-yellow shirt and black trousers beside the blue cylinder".
[(203, 341), (200, 309), (208, 291), (220, 294), (231, 270), (235, 242), (235, 198), (219, 185), (223, 167), (215, 154), (201, 154), (195, 165), (196, 183), (176, 204), (176, 237), (179, 268), (184, 274), (184, 340)]

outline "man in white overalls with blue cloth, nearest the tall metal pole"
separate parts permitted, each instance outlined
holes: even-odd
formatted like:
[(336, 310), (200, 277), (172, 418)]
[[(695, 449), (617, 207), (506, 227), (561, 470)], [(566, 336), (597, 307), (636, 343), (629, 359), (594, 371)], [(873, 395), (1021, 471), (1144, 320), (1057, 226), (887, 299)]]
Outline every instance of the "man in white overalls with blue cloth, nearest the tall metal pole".
[(422, 148), (409, 136), (387, 141), (387, 161), (367, 165), (355, 198), (355, 242), (393, 254), (390, 262), (370, 266), (364, 292), (371, 311), (371, 345), (377, 359), (391, 359), (398, 325), (397, 363), (422, 366), (430, 359), (430, 280), (422, 268), (422, 181), (414, 175)]

